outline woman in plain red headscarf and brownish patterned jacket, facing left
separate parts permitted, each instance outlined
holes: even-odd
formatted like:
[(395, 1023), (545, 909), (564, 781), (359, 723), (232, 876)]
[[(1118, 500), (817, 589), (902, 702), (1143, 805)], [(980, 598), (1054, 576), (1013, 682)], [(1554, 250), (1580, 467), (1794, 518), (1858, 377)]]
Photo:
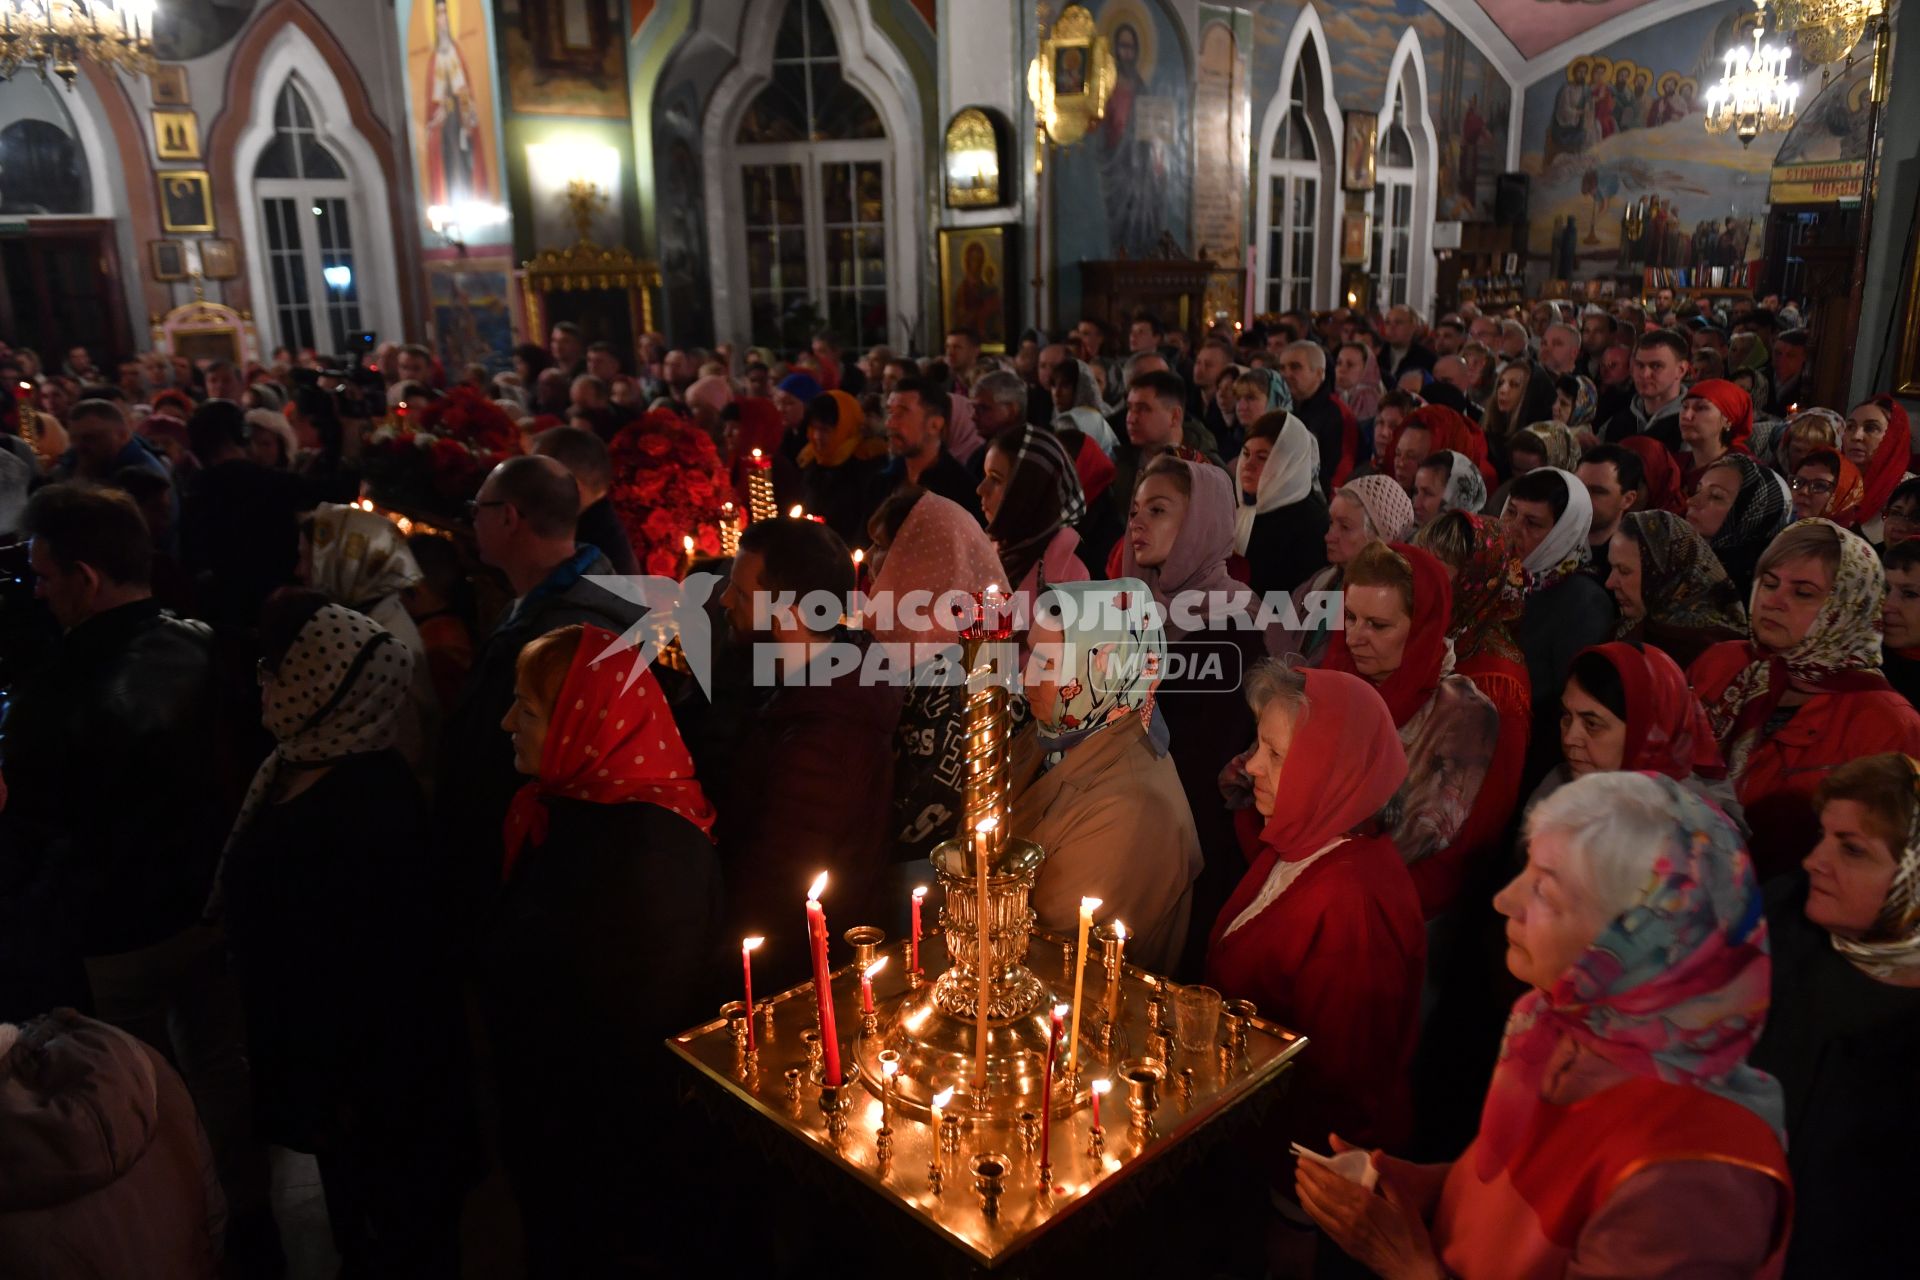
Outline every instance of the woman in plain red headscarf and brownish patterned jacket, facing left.
[(1327, 637), (1321, 668), (1369, 681), (1400, 727), (1407, 783), (1394, 844), (1432, 919), (1496, 848), (1521, 779), (1490, 773), (1500, 712), (1453, 672), (1453, 587), (1440, 560), (1404, 543), (1369, 543), (1346, 568), (1342, 606), (1346, 628)]

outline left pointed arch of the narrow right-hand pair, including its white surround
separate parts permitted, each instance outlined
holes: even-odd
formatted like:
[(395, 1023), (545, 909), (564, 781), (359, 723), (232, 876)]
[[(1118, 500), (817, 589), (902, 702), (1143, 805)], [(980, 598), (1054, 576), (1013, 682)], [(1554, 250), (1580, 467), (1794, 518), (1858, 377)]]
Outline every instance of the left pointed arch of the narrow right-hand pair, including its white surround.
[(1340, 107), (1327, 81), (1327, 33), (1300, 10), (1281, 84), (1260, 119), (1256, 311), (1334, 305), (1340, 226)]

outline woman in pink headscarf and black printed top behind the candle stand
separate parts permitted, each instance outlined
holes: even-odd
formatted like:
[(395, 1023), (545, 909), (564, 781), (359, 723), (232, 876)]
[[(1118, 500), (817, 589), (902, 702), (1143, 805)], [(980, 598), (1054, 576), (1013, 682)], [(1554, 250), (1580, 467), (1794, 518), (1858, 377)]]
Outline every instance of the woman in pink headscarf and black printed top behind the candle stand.
[[(979, 520), (925, 489), (889, 497), (870, 528), (877, 612), (868, 631), (899, 670), (914, 674), (893, 733), (895, 860), (912, 862), (958, 833), (966, 781), (954, 768), (966, 748), (966, 683), (948, 679), (948, 660), (958, 656), (948, 647), (960, 641), (962, 618), (941, 604), (966, 603), (948, 593), (981, 597), (993, 585), (1004, 591), (1006, 570)], [(916, 626), (920, 608), (927, 626)]]

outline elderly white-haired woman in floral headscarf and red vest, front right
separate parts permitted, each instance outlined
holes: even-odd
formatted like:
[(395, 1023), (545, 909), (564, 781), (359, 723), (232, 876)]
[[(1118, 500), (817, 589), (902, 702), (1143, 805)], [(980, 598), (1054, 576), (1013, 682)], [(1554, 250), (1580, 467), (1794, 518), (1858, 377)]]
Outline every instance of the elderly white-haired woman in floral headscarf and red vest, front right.
[(1380, 1276), (1776, 1274), (1791, 1192), (1780, 1084), (1747, 1065), (1768, 960), (1740, 833), (1670, 777), (1582, 777), (1494, 904), (1534, 990), (1473, 1144), (1375, 1151), (1384, 1194), (1302, 1161), (1300, 1203)]

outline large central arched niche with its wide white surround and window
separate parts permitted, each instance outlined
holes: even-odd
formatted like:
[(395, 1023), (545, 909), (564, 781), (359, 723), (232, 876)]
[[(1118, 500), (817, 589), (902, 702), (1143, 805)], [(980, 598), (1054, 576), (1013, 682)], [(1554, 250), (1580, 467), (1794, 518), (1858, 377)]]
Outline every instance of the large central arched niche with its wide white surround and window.
[(806, 307), (843, 344), (920, 328), (922, 111), (856, 0), (749, 0), (701, 125), (714, 336), (787, 347)]

